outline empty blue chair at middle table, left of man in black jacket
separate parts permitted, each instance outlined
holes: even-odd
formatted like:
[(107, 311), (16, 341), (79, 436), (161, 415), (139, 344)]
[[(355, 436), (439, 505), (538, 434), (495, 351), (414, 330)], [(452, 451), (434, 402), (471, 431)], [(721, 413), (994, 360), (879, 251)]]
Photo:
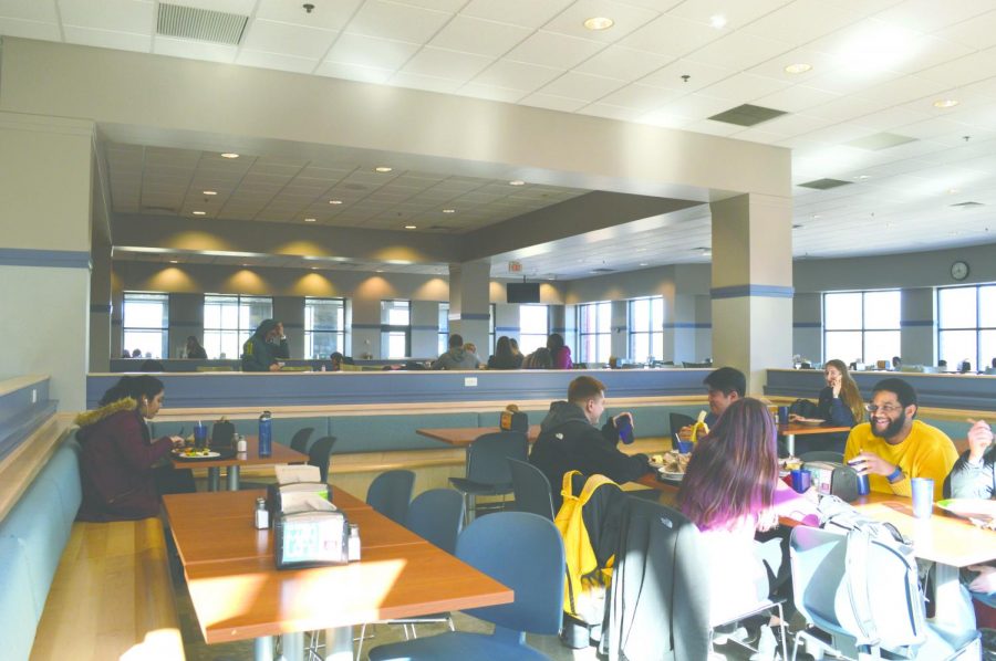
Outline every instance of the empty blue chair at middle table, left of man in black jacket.
[[(477, 514), (477, 496), (505, 496), (512, 492), (509, 459), (526, 461), (529, 442), (520, 431), (499, 431), (478, 437), (467, 448), (467, 476), (449, 483), (467, 499), (467, 516)], [(504, 508), (505, 503), (498, 507)], [(481, 506), (484, 508), (484, 506)]]

